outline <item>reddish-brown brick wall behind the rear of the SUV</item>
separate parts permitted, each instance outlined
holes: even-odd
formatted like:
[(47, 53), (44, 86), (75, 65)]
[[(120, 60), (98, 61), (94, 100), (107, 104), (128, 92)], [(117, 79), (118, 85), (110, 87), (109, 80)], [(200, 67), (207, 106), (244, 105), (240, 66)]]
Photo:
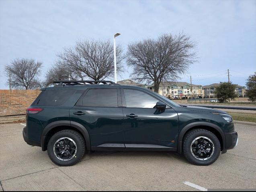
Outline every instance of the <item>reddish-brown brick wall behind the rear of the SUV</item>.
[(26, 114), (40, 90), (0, 90), (0, 116)]

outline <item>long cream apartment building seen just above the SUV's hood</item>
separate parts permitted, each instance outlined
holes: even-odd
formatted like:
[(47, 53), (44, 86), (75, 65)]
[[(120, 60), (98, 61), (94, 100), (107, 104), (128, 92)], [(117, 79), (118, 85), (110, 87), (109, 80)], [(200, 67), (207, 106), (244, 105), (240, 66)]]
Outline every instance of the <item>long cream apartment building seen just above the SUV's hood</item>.
[[(191, 92), (192, 86), (192, 92)], [(201, 85), (189, 84), (187, 82), (162, 82), (159, 86), (158, 93), (171, 99), (175, 98), (203, 98)], [(147, 86), (154, 91), (154, 84)]]

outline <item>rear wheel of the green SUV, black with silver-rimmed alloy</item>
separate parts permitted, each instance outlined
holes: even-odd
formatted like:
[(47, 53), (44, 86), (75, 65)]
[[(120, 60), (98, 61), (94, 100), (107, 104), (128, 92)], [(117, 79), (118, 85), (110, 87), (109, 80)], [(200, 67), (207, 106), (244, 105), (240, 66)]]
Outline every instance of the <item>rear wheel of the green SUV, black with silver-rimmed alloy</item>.
[(84, 156), (84, 138), (74, 130), (62, 130), (51, 137), (47, 152), (51, 161), (56, 165), (74, 165)]

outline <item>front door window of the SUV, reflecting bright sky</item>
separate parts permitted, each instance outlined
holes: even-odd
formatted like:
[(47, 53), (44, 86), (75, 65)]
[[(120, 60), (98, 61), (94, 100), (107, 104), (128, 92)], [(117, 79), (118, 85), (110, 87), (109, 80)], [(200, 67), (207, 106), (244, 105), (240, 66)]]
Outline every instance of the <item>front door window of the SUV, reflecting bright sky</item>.
[(124, 89), (126, 107), (131, 108), (154, 108), (157, 99), (141, 91)]

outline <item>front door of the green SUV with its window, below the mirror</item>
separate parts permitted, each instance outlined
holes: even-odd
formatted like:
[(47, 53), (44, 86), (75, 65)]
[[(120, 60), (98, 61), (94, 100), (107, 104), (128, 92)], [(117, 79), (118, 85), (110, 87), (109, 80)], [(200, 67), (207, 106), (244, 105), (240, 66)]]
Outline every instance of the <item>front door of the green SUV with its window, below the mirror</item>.
[(178, 138), (178, 114), (170, 106), (159, 112), (155, 96), (131, 88), (123, 88), (126, 148), (176, 148)]

